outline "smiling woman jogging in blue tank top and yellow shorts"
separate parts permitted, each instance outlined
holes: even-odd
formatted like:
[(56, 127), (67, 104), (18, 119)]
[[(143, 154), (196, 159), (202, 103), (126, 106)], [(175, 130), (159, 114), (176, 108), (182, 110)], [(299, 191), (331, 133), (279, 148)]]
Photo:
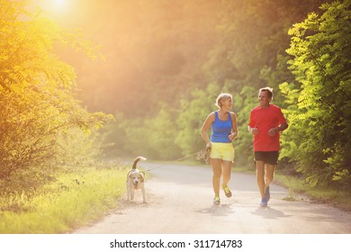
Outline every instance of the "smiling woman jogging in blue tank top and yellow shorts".
[[(238, 137), (237, 116), (230, 112), (233, 100), (231, 94), (220, 94), (216, 100), (219, 110), (211, 112), (202, 124), (201, 135), (206, 148), (211, 148), (210, 163), (213, 171), (212, 186), (213, 203), (220, 203), (220, 177), (223, 176), (222, 189), (227, 197), (231, 197), (228, 187), (231, 165), (234, 161), (232, 141)], [(207, 130), (211, 127), (211, 139)]]

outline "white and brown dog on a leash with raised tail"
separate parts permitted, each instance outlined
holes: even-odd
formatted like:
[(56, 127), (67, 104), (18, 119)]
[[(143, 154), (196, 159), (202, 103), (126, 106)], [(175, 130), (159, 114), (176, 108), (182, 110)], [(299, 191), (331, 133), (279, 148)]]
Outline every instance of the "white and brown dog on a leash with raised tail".
[(145, 161), (147, 158), (145, 157), (137, 157), (134, 160), (133, 166), (131, 167), (131, 170), (127, 174), (127, 200), (132, 202), (134, 200), (134, 193), (135, 190), (140, 189), (142, 193), (142, 202), (146, 203), (146, 194), (145, 194), (145, 173), (143, 171), (140, 171), (137, 169), (137, 164), (138, 162), (142, 160)]

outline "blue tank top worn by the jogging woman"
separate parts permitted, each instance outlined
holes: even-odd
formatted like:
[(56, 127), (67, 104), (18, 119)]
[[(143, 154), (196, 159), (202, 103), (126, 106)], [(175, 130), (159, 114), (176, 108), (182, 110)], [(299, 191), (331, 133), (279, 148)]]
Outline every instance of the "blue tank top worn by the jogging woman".
[(214, 112), (215, 119), (212, 122), (211, 142), (231, 142), (228, 136), (231, 132), (231, 116), (228, 112), (228, 120), (220, 121), (218, 112)]

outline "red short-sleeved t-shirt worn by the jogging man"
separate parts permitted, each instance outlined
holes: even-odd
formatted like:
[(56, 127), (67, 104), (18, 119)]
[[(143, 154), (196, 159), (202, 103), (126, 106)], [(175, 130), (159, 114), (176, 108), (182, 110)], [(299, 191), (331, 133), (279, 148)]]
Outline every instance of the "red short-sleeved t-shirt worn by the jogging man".
[(254, 137), (254, 151), (278, 151), (280, 149), (279, 132), (271, 137), (268, 135), (268, 130), (285, 123), (283, 112), (276, 105), (254, 108), (250, 112), (250, 122), (248, 122), (248, 126), (258, 129), (258, 134)]

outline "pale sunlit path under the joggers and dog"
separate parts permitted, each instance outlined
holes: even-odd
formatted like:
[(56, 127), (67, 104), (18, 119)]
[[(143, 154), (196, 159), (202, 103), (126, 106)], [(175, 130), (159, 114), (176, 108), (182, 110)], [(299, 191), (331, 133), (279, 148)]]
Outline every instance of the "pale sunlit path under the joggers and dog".
[[(144, 169), (157, 164), (139, 163)], [(271, 185), (267, 208), (254, 175), (232, 174), (231, 198), (221, 192), (220, 205), (212, 204), (211, 167), (167, 165), (150, 171), (146, 190), (135, 202), (121, 200), (115, 213), (98, 223), (77, 229), (80, 234), (350, 234), (351, 213), (300, 199), (288, 202), (288, 192)]]

